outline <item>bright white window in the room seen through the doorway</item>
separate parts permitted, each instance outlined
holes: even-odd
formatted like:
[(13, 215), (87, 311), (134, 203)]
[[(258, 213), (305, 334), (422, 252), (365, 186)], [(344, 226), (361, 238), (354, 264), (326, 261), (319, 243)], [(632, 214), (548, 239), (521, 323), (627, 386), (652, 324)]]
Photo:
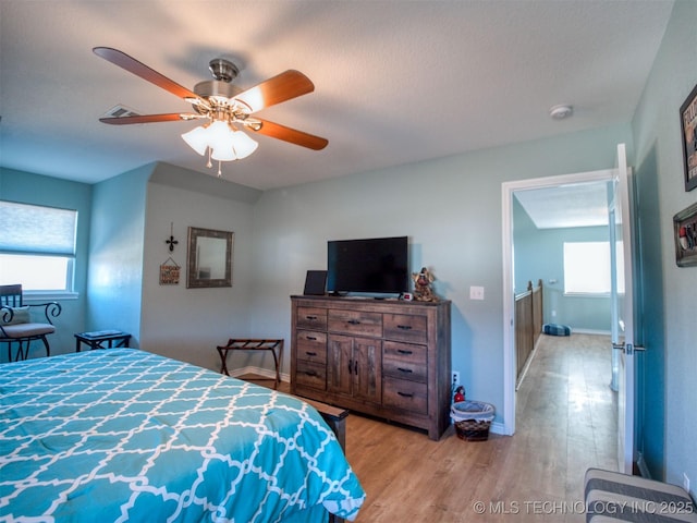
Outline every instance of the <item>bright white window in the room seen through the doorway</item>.
[[(617, 242), (617, 267), (624, 264)], [(610, 294), (610, 242), (564, 242), (564, 294)], [(617, 292), (624, 293), (624, 270), (617, 271)]]

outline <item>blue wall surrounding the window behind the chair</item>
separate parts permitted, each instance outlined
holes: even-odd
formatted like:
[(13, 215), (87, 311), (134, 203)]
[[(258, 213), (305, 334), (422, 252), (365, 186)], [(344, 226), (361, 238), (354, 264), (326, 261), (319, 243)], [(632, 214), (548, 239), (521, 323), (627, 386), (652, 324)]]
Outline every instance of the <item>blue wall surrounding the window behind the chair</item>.
[[(87, 307), (87, 250), (91, 215), (91, 186), (85, 183), (59, 180), (24, 171), (0, 168), (0, 198), (25, 204), (46, 205), (77, 210), (74, 290), (76, 300), (61, 300), (61, 315), (56, 318), (56, 333), (49, 342), (51, 354), (73, 352), (75, 332), (85, 330)], [(32, 345), (32, 356), (44, 355), (40, 343)], [(7, 361), (4, 345), (0, 362)]]

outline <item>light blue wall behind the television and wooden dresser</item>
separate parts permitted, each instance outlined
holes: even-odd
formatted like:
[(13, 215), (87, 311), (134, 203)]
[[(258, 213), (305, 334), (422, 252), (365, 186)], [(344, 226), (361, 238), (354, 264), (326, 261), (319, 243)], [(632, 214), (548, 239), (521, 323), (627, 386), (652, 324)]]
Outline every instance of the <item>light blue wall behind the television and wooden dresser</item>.
[[(612, 168), (631, 138), (620, 125), (265, 192), (253, 221), (253, 330), (280, 325), (289, 339), (289, 296), (308, 269), (326, 268), (328, 240), (408, 235), (412, 269), (428, 266), (453, 302), (453, 369), (472, 398), (502, 409), (501, 183)], [(469, 300), (470, 285), (484, 301)]]

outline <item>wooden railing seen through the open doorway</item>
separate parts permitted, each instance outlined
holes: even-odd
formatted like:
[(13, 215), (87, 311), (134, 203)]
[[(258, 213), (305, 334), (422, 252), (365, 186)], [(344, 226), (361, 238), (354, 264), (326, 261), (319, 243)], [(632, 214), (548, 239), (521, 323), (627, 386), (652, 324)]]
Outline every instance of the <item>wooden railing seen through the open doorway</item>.
[(533, 287), (533, 282), (528, 281), (527, 291), (515, 296), (515, 352), (518, 378), (541, 333), (542, 280), (538, 280), (537, 287)]

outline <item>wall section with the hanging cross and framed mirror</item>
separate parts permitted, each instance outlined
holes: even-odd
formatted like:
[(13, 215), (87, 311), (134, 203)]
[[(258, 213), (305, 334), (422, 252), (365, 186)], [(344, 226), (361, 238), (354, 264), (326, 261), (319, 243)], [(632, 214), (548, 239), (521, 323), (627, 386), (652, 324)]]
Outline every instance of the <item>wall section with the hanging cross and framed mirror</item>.
[[(147, 186), (143, 349), (218, 370), (217, 345), (229, 338), (254, 338), (249, 319), (255, 271), (252, 219), (259, 194), (260, 191), (174, 166), (156, 167)], [(179, 241), (173, 252), (164, 243), (171, 227)], [(186, 288), (188, 227), (234, 232), (231, 288)], [(171, 264), (170, 258), (181, 267), (180, 282), (160, 285), (159, 267)], [(283, 328), (270, 326), (264, 336), (276, 338)], [(231, 355), (229, 362), (230, 368), (271, 368), (270, 362), (248, 353)]]

